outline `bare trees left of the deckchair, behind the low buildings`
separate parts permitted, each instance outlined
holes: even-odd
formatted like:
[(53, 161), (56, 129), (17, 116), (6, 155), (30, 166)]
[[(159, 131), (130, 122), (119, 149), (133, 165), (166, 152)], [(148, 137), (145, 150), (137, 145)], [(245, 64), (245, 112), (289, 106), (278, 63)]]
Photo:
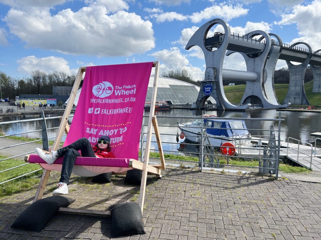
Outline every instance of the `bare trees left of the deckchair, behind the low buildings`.
[(75, 75), (55, 71), (47, 74), (41, 70), (33, 70), (30, 77), (11, 77), (0, 71), (2, 98), (14, 99), (19, 94), (52, 94), (54, 86), (73, 86)]

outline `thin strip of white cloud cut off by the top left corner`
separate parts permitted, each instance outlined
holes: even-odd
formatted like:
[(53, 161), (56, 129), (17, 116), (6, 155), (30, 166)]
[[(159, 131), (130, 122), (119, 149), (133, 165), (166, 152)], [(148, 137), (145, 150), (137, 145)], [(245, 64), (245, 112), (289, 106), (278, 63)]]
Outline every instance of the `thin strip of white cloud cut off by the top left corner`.
[(0, 0), (0, 3), (15, 8), (50, 7), (65, 3), (67, 0)]

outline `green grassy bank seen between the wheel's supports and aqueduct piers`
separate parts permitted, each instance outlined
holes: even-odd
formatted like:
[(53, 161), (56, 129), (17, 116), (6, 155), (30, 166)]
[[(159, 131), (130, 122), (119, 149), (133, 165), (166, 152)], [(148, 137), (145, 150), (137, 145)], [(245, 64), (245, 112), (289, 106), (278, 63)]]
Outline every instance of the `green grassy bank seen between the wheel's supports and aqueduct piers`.
[[(239, 103), (242, 100), (246, 84), (235, 85), (235, 86), (225, 86), (224, 91), (225, 95), (230, 102)], [(289, 89), (289, 84), (274, 84), (275, 94), (280, 103), (286, 97), (286, 94)], [(321, 106), (321, 92), (312, 92), (313, 81), (305, 83), (304, 89), (307, 94), (307, 98), (311, 105)]]

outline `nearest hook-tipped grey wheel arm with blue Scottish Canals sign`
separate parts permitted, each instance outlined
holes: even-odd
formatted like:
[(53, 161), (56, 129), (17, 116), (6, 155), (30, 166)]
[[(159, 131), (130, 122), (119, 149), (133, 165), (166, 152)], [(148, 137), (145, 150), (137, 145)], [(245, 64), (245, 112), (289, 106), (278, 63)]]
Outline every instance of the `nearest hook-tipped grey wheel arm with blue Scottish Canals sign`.
[[(221, 41), (221, 44), (218, 49), (211, 51), (212, 49), (208, 47), (207, 33), (211, 29), (211, 27), (215, 24), (221, 24), (224, 28), (224, 34), (214, 36)], [(225, 52), (227, 50), (228, 44), (230, 43), (231, 30), (230, 26), (221, 19), (213, 19), (203, 26), (201, 26), (190, 38), (185, 49), (190, 49), (193, 46), (199, 46), (205, 57), (206, 69), (213, 69), (212, 71), (215, 74), (207, 75), (205, 74), (205, 80), (201, 81), (201, 89), (197, 97), (197, 108), (200, 108), (199, 103), (201, 99), (205, 96), (211, 96), (216, 101), (216, 106), (218, 109), (247, 109), (250, 107), (250, 104), (246, 104), (244, 106), (235, 106), (230, 103), (230, 101), (226, 98), (224, 90), (223, 90), (223, 61)], [(205, 47), (205, 44), (207, 47)], [(211, 89), (205, 89), (206, 86)]]

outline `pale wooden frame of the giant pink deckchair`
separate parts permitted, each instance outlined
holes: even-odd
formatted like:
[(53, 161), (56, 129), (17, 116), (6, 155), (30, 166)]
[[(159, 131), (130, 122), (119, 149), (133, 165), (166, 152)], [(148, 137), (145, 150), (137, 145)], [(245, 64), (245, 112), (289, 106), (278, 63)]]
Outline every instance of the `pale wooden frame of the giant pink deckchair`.
[[(132, 160), (130, 160), (130, 163), (129, 163), (129, 167), (132, 167), (134, 169), (140, 169), (143, 171), (140, 194), (139, 194), (139, 206), (142, 210), (142, 213), (143, 213), (143, 206), (144, 206), (147, 174), (156, 174), (156, 176), (161, 177), (161, 169), (165, 169), (165, 160), (164, 160), (163, 149), (162, 149), (162, 145), (161, 145), (161, 141), (160, 141), (160, 132), (158, 129), (156, 116), (154, 116), (156, 94), (157, 94), (158, 74), (159, 74), (159, 61), (154, 62), (153, 67), (155, 67), (155, 75), (154, 75), (154, 84), (153, 84), (153, 92), (152, 92), (152, 99), (151, 99), (151, 108), (150, 108), (150, 112), (149, 112), (149, 121), (148, 121), (148, 127), (147, 127), (147, 138), (146, 138), (146, 145), (145, 145), (144, 162), (139, 162), (137, 160), (132, 159)], [(86, 71), (86, 67), (80, 67), (78, 70), (73, 89), (70, 93), (68, 104), (65, 108), (64, 115), (62, 116), (62, 119), (61, 119), (61, 122), (59, 125), (59, 129), (58, 129), (55, 141), (52, 146), (52, 149), (54, 151), (59, 149), (59, 144), (61, 142), (64, 132), (66, 132), (66, 133), (69, 132), (69, 125), (68, 125), (67, 121), (70, 116), (70, 112), (73, 107), (73, 103), (74, 103), (80, 82), (82, 80), (82, 75), (85, 71)], [(151, 146), (151, 140), (152, 140), (152, 124), (154, 126), (154, 131), (155, 131), (158, 149), (159, 149), (159, 153), (160, 153), (161, 164), (149, 164), (149, 153), (150, 153), (150, 146)], [(28, 161), (27, 156), (26, 156), (26, 161)], [(40, 183), (39, 183), (39, 187), (36, 192), (36, 196), (33, 199), (33, 202), (42, 198), (46, 184), (48, 182), (50, 172), (51, 172), (51, 170), (44, 170), (41, 180), (40, 180)], [(105, 216), (110, 215), (110, 211), (98, 211), (98, 210), (60, 208), (58, 211), (59, 212), (69, 212), (69, 213), (71, 213), (71, 212), (82, 213), (82, 214), (98, 214), (98, 215), (105, 215)]]

